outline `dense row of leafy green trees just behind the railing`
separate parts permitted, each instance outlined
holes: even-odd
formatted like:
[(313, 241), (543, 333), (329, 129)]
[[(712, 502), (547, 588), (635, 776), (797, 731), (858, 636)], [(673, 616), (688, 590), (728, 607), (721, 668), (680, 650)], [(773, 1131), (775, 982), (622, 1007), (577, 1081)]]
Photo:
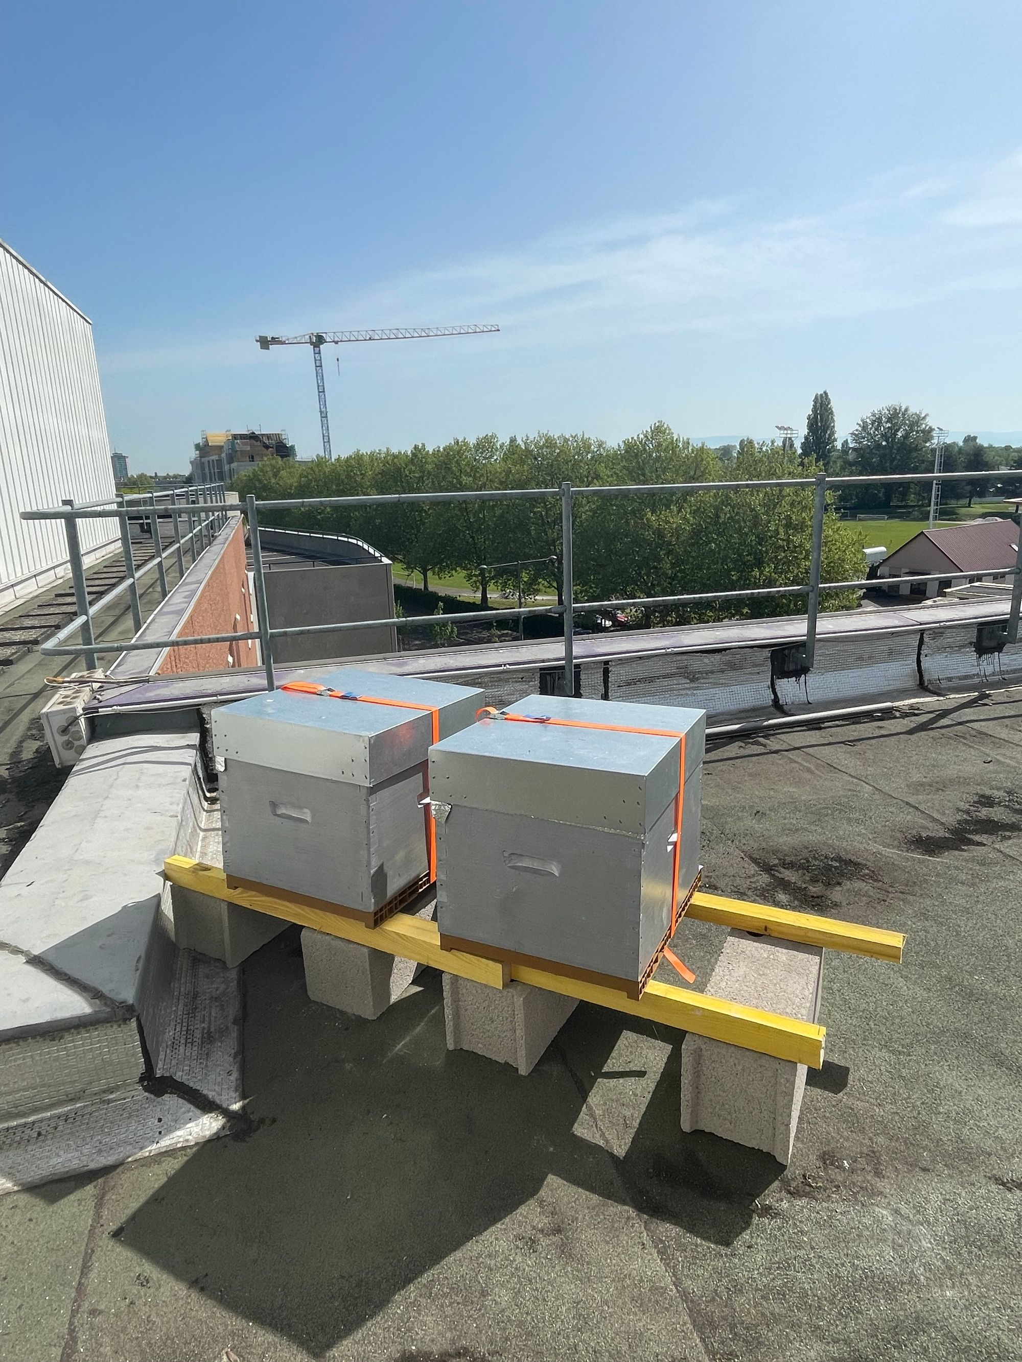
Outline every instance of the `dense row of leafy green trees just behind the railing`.
[[(775, 443), (744, 440), (726, 462), (706, 445), (675, 434), (664, 422), (608, 445), (585, 434), (536, 434), (452, 440), (437, 448), (356, 452), (332, 463), (270, 459), (243, 474), (244, 497), (341, 497), (401, 492), (501, 488), (624, 486), (724, 479), (805, 477), (822, 463)], [(485, 565), (552, 560), (523, 569), (530, 594), (561, 595), (560, 501), (556, 497), (492, 503), (308, 507), (266, 513), (267, 523), (354, 534), (422, 575), (462, 572), (482, 591), (486, 582), (511, 588), (515, 568)], [(804, 583), (809, 573), (812, 489), (739, 493), (580, 496), (574, 511), (576, 598), (590, 601), (729, 591)], [(823, 573), (831, 582), (863, 573), (861, 538), (829, 512)], [(830, 592), (824, 609), (846, 609), (850, 592)], [(797, 613), (800, 597), (763, 597), (658, 612), (662, 620), (733, 618)], [(647, 613), (649, 618), (649, 613)]]

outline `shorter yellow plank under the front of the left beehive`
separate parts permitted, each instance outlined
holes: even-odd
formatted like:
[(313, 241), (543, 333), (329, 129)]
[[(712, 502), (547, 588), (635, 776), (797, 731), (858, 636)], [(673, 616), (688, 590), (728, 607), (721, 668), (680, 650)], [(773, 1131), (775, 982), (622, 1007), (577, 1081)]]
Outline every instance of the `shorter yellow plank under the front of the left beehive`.
[(228, 887), (226, 876), (219, 866), (206, 865), (181, 855), (166, 858), (164, 874), (172, 884), (180, 884), (184, 889), (195, 889), (198, 893), (207, 893), (211, 899), (223, 899), (226, 903), (237, 903), (243, 908), (253, 908), (256, 913), (267, 913), (273, 918), (297, 922), (303, 928), (313, 928), (327, 936), (343, 937), (345, 941), (354, 941), (357, 945), (368, 945), (375, 951), (386, 951), (388, 955), (403, 956), (406, 960), (417, 960), (435, 970), (458, 974), (463, 979), (488, 983), (492, 989), (503, 989), (510, 978), (508, 966), (500, 964), (497, 960), (484, 960), (478, 955), (466, 955), (463, 951), (442, 949), (436, 923), (424, 922), (409, 913), (395, 913), (380, 926), (368, 928), (356, 922), (354, 918), (343, 918), (339, 913), (312, 908), (289, 899), (285, 893), (278, 896), (259, 893), (255, 889), (232, 889)]

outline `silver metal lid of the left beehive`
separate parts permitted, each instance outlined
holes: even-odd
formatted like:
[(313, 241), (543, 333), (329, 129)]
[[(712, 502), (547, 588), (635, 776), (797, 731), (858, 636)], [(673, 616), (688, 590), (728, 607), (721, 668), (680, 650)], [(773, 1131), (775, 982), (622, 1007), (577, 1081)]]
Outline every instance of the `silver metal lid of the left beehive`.
[[(482, 700), (481, 691), (466, 686), (361, 667), (328, 671), (318, 684), (354, 696), (433, 706), (442, 734), (470, 723)], [(369, 786), (425, 761), (433, 723), (428, 708), (281, 689), (214, 710), (213, 735), (218, 757)]]

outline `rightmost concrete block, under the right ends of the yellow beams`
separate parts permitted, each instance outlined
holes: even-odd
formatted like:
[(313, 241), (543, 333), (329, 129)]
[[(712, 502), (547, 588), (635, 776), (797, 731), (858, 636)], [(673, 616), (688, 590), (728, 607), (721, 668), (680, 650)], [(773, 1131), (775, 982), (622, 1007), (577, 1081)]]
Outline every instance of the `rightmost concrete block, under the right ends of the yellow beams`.
[[(816, 1022), (822, 981), (820, 947), (732, 932), (706, 992)], [(804, 1091), (804, 1064), (702, 1035), (687, 1035), (681, 1046), (683, 1130), (710, 1130), (788, 1163)]]

